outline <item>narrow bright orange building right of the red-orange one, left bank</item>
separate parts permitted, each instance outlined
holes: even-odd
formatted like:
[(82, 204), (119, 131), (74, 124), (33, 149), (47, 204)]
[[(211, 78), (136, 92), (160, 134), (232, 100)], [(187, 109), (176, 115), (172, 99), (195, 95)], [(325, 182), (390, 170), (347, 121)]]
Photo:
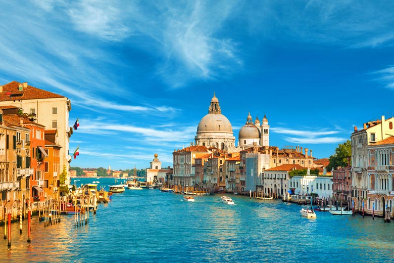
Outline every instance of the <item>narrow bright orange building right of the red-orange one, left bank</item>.
[[(45, 158), (44, 166), (44, 196), (46, 200), (60, 197), (60, 149), (62, 146), (57, 144), (58, 130), (45, 130)], [(64, 174), (65, 176), (65, 174)]]

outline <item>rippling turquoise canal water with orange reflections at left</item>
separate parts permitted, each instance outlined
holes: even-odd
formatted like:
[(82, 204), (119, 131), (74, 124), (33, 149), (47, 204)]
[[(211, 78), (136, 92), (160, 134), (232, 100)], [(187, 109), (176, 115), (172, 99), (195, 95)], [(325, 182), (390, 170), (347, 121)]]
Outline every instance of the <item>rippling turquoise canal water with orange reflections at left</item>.
[[(73, 179), (77, 185), (97, 179)], [(101, 186), (114, 179), (98, 180)], [(119, 183), (119, 182), (118, 182)], [(317, 212), (302, 217), (296, 204), (230, 195), (196, 196), (158, 189), (114, 194), (74, 227), (74, 216), (44, 227), (12, 225), (11, 248), (0, 241), (1, 262), (392, 262), (394, 223), (382, 218)], [(4, 233), (4, 227), (0, 227)], [(2, 239), (3, 240), (3, 239)]]

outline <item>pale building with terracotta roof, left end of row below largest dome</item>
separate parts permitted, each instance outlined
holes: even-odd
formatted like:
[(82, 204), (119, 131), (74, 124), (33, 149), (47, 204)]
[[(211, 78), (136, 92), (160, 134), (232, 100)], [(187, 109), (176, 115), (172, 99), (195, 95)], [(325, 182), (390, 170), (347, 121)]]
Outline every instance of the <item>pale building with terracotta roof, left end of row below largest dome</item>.
[(173, 157), (173, 184), (181, 186), (194, 186), (194, 164), (196, 158), (208, 154), (206, 146), (194, 145), (184, 149), (174, 150)]

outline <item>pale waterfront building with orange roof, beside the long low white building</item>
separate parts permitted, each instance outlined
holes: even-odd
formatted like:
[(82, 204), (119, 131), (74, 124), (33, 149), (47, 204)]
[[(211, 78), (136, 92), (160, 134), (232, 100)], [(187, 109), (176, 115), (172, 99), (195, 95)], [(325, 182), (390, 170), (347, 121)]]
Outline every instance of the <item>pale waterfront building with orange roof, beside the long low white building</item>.
[[(282, 164), (273, 168), (264, 170), (263, 174), (263, 193), (267, 197), (282, 198), (290, 189), (289, 171), (307, 169), (299, 164)], [(295, 181), (295, 180), (294, 180)], [(300, 181), (295, 181), (300, 182)], [(294, 192), (294, 187), (292, 187)]]

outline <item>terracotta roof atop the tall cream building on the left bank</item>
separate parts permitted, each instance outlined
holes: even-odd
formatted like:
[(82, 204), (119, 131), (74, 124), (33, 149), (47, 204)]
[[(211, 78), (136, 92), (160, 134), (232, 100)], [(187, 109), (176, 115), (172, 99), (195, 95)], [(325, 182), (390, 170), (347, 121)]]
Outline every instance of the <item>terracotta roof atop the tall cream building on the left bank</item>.
[[(3, 85), (3, 92), (0, 93), (0, 101), (65, 98), (64, 96), (44, 91), (30, 85), (27, 85), (22, 91), (19, 91), (19, 84), (20, 83), (17, 81), (12, 81)], [(9, 95), (10, 92), (11, 95)]]

